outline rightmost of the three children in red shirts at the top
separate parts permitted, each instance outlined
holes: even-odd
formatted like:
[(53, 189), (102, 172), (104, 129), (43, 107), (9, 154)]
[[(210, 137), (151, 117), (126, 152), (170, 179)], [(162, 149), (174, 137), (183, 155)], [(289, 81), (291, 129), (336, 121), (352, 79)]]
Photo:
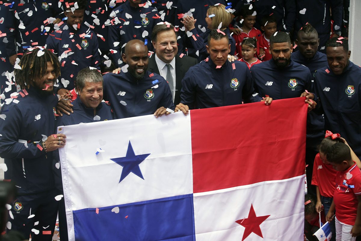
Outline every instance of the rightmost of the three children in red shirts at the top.
[(262, 36), (259, 38), (260, 53), (258, 58), (267, 61), (272, 59), (272, 55), (269, 51), (270, 37), (277, 31), (277, 22), (273, 16), (266, 16), (262, 18), (261, 29), (264, 31)]

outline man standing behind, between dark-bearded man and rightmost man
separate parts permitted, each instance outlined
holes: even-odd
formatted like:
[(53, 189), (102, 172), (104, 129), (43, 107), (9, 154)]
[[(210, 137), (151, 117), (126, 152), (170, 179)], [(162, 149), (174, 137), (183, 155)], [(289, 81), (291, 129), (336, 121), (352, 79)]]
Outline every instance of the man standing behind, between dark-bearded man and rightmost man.
[[(299, 51), (293, 52), (291, 60), (306, 66), (311, 72), (312, 88), (313, 75), (317, 69), (327, 65), (327, 57), (324, 53), (317, 51), (319, 45), (318, 33), (314, 27), (307, 23), (298, 31), (296, 44)], [(307, 115), (307, 138), (306, 138), (306, 173), (307, 190), (315, 194), (316, 189), (311, 185), (314, 158), (318, 153), (318, 145), (325, 136), (325, 122), (322, 115), (311, 111)]]

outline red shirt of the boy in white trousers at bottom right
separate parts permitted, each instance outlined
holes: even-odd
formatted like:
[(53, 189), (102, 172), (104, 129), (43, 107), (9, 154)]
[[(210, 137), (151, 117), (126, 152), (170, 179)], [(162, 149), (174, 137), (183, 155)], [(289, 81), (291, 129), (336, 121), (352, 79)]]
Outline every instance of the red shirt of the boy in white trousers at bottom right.
[(355, 224), (358, 205), (356, 195), (361, 195), (361, 171), (355, 163), (346, 171), (336, 173), (334, 203), (336, 218), (341, 223)]

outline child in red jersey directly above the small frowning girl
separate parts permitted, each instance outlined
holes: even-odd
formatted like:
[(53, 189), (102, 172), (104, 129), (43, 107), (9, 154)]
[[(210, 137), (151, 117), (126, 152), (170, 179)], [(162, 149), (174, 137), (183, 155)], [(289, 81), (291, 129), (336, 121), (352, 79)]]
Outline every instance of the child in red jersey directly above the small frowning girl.
[[(261, 31), (256, 29), (255, 27), (253, 27), (253, 25), (255, 25), (255, 23), (256, 23), (256, 9), (254, 6), (251, 9), (249, 9), (250, 6), (251, 6), (250, 4), (242, 6), (242, 8), (240, 10), (240, 16), (239, 16), (239, 18), (241, 19), (241, 22), (243, 24), (242, 29), (241, 29), (242, 33), (233, 35), (233, 38), (236, 41), (235, 55), (238, 58), (240, 58), (241, 54), (242, 54), (243, 39), (254, 38), (257, 41), (258, 38), (261, 37)], [(260, 48), (258, 46), (258, 41), (257, 41), (256, 46), (257, 46), (257, 55), (258, 55), (260, 52)]]

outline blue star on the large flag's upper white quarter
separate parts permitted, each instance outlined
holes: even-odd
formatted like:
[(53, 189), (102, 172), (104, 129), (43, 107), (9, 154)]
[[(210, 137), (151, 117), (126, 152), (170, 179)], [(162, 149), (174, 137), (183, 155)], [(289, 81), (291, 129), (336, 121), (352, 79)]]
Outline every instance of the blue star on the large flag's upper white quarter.
[(135, 155), (132, 144), (129, 141), (128, 150), (125, 157), (110, 158), (113, 162), (118, 163), (123, 167), (122, 174), (120, 176), (119, 183), (128, 176), (130, 172), (134, 173), (138, 177), (143, 178), (143, 174), (140, 171), (139, 164), (142, 163), (149, 154)]

